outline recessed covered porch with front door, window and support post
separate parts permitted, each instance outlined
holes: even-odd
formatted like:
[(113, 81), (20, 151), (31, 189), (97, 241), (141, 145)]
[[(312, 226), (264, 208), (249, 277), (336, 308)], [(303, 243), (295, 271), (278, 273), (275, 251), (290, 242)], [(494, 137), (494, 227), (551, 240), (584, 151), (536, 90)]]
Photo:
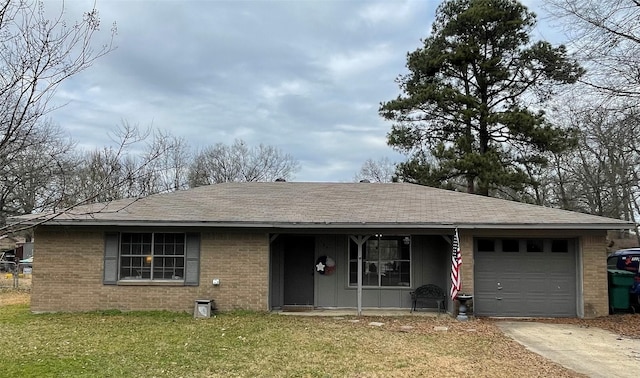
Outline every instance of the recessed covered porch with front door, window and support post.
[[(453, 232), (444, 232), (272, 234), (270, 309), (410, 315), (416, 288), (434, 284), (449, 290)], [(416, 313), (437, 314), (435, 302), (425, 306)], [(445, 309), (451, 308), (447, 297)]]

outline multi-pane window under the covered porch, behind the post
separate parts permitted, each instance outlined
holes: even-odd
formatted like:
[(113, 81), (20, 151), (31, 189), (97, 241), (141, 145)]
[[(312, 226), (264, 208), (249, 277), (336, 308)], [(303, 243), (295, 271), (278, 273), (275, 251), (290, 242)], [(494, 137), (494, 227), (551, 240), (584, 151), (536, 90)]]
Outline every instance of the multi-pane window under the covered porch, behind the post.
[[(358, 284), (358, 245), (349, 241), (349, 286)], [(411, 237), (376, 235), (362, 245), (362, 286), (411, 286)]]

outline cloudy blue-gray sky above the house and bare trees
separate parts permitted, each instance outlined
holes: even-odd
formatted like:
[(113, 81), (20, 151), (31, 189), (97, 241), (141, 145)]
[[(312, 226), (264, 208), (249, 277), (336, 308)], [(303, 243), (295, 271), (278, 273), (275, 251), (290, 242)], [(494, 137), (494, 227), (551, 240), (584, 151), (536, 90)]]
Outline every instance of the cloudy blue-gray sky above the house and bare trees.
[[(541, 0), (524, 1), (544, 17)], [(60, 7), (47, 0), (47, 7)], [(81, 148), (126, 121), (193, 151), (244, 140), (300, 162), (294, 181), (353, 181), (386, 145), (381, 101), (400, 94), (406, 54), (429, 34), (436, 0), (97, 0), (101, 43), (117, 49), (66, 81), (51, 114)], [(94, 0), (67, 0), (79, 19)], [(541, 25), (537, 38), (552, 38)]]

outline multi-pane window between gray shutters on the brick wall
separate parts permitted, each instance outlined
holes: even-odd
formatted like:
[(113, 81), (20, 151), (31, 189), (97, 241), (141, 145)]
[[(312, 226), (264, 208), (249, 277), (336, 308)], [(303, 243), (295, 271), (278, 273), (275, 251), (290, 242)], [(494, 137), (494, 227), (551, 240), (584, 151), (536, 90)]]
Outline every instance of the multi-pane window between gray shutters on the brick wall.
[(120, 234), (120, 280), (184, 280), (185, 234)]

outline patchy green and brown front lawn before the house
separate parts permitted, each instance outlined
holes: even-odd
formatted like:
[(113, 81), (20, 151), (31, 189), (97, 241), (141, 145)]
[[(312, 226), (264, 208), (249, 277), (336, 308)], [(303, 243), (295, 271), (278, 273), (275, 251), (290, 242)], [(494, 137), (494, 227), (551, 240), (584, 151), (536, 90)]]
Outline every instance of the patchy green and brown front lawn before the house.
[[(539, 366), (527, 361), (541, 361), (491, 324), (448, 318), (35, 315), (12, 304), (0, 306), (0, 333), (0, 376), (13, 377), (535, 376)], [(517, 353), (524, 362), (512, 361)]]

